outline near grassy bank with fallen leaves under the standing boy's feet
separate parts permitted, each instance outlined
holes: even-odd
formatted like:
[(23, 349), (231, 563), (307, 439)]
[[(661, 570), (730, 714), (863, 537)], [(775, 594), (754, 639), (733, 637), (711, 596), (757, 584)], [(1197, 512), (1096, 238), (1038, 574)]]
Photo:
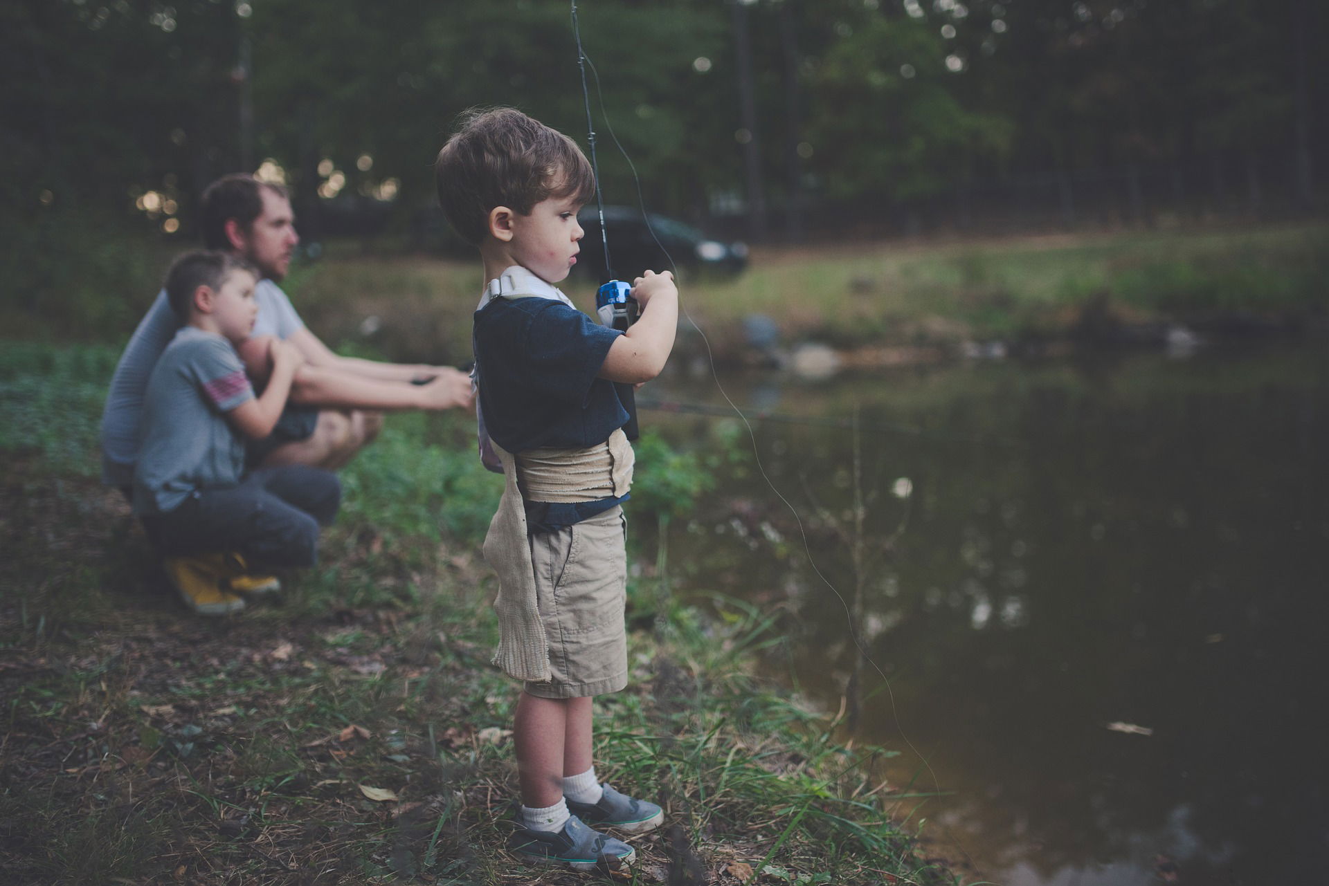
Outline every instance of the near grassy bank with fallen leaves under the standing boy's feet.
[[(0, 357), (0, 870), (16, 883), (570, 883), (513, 866), (510, 683), (478, 538), (498, 493), (469, 421), (396, 416), (344, 472), (322, 563), (276, 606), (194, 618), (94, 476), (114, 348)], [(704, 487), (642, 453), (639, 533)], [(653, 460), (655, 462), (653, 464)], [(647, 477), (657, 477), (647, 481)], [(655, 485), (651, 486), (650, 484)], [(719, 623), (634, 569), (633, 681), (597, 760), (658, 798), (622, 882), (952, 882), (873, 748), (752, 676), (764, 614)]]

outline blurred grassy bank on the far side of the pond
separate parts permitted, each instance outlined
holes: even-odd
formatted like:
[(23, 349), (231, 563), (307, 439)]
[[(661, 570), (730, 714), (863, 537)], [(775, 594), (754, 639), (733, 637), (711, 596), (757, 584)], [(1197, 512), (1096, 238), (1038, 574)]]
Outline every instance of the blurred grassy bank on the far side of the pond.
[[(1167, 324), (1211, 335), (1294, 331), (1322, 323), (1326, 276), (1329, 227), (1305, 224), (760, 247), (743, 275), (684, 280), (683, 295), (718, 356), (732, 360), (754, 313), (769, 316), (787, 345), (841, 349), (1114, 344), (1130, 337), (1123, 329)], [(478, 287), (470, 262), (332, 255), (292, 288), (311, 325), (335, 341), (461, 360)], [(563, 288), (589, 298), (590, 287), (574, 276)], [(696, 347), (690, 332), (684, 320), (684, 348)]]

